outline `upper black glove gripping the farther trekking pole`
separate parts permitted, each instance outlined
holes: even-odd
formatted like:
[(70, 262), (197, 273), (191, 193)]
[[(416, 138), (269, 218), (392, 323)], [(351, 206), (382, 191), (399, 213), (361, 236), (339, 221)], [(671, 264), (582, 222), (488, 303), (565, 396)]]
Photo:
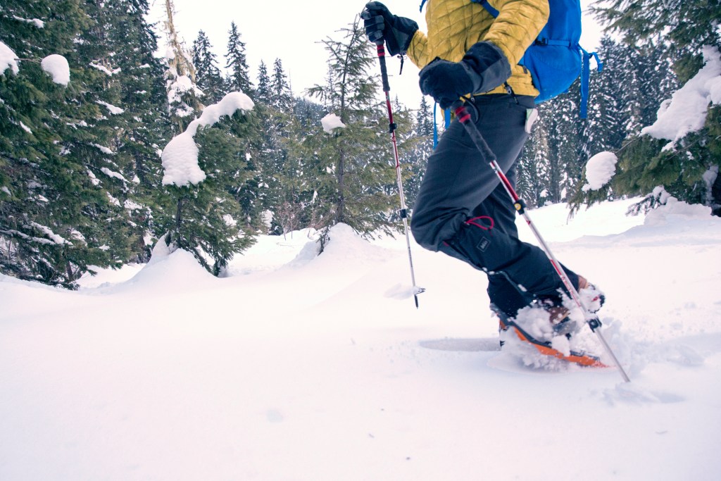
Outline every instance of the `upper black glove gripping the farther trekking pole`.
[(398, 17), (379, 1), (366, 4), (361, 13), (366, 35), (371, 42), (385, 42), (390, 56), (406, 53), (408, 45), (418, 30), (418, 24), (411, 19)]

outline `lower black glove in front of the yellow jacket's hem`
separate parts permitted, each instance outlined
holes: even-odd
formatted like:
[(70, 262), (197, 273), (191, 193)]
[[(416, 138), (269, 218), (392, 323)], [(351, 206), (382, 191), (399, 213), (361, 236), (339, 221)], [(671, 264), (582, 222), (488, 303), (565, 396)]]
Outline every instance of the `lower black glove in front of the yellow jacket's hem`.
[(510, 77), (510, 63), (490, 42), (479, 42), (460, 62), (436, 58), (420, 71), (420, 91), (447, 109), (466, 94), (495, 89)]

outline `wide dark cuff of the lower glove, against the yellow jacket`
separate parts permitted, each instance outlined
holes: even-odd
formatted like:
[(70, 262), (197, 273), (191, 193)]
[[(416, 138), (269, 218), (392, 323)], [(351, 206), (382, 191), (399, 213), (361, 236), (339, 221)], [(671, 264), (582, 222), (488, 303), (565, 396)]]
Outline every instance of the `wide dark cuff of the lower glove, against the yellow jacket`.
[(473, 82), (473, 94), (495, 89), (510, 77), (510, 63), (503, 50), (490, 42), (479, 42), (468, 49), (461, 61)]

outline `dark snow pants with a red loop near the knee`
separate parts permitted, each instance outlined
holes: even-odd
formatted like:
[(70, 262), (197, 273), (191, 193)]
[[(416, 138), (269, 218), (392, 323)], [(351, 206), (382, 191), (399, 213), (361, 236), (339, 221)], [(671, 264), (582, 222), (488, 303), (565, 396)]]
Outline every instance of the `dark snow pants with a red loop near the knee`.
[[(515, 185), (533, 97), (492, 94), (471, 102), (477, 107), (469, 108), (474, 123)], [(487, 273), (490, 301), (508, 316), (534, 299), (565, 291), (544, 252), (518, 239), (508, 193), (458, 121), (443, 133), (428, 159), (411, 231), (425, 249), (440, 250)], [(565, 270), (578, 287), (578, 275)]]

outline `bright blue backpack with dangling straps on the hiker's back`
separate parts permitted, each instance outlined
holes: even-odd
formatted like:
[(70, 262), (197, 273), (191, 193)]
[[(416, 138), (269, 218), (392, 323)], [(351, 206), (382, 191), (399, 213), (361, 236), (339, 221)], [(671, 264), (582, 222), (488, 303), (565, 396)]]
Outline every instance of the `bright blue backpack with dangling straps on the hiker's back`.
[[(471, 0), (481, 4), (493, 17), (498, 11), (488, 0)], [(423, 9), (425, 0), (420, 5)], [(590, 58), (596, 58), (598, 71), (603, 64), (598, 54), (588, 53), (578, 44), (581, 36), (581, 6), (579, 0), (549, 0), (550, 15), (546, 26), (536, 41), (526, 49), (518, 62), (528, 69), (534, 80), (534, 87), (540, 94), (536, 104), (568, 92), (578, 76), (581, 76), (580, 118), (588, 114), (588, 82), (590, 78)]]

